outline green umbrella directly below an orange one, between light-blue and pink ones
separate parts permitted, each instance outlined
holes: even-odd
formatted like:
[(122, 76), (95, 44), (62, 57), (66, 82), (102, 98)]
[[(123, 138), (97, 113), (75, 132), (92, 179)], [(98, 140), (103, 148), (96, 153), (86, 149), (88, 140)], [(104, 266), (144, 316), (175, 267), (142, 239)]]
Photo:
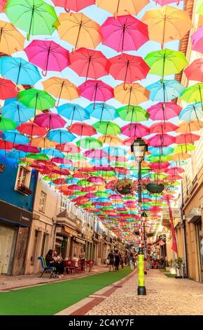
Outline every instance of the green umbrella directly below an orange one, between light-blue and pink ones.
[(149, 114), (142, 107), (129, 105), (127, 107), (119, 107), (117, 110), (118, 116), (125, 120), (130, 121), (131, 123), (138, 123), (139, 121), (148, 120)]

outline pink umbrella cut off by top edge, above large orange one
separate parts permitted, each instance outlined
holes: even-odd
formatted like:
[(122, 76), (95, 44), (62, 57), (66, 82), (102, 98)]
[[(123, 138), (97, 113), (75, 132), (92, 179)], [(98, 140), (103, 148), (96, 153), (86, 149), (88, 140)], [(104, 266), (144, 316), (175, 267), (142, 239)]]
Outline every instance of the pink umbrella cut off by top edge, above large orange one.
[(95, 0), (52, 0), (55, 6), (63, 7), (67, 13), (69, 11), (81, 11), (81, 9), (94, 5)]

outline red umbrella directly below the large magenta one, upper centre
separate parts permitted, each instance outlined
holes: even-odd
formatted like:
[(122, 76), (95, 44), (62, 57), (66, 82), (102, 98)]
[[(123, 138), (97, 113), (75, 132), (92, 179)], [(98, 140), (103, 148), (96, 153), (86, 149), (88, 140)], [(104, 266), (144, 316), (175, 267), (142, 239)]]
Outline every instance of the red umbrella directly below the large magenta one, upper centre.
[(140, 56), (122, 54), (110, 58), (111, 67), (109, 73), (117, 80), (132, 83), (145, 79), (150, 67)]

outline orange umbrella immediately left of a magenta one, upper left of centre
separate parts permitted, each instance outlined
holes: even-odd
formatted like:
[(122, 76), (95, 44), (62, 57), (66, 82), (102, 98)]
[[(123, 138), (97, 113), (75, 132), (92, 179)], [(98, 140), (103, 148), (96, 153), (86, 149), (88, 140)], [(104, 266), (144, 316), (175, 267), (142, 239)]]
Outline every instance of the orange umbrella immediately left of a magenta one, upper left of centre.
[(52, 77), (43, 81), (42, 84), (45, 91), (58, 98), (57, 105), (59, 105), (59, 100), (61, 98), (65, 100), (79, 98), (78, 87), (72, 84), (68, 79)]

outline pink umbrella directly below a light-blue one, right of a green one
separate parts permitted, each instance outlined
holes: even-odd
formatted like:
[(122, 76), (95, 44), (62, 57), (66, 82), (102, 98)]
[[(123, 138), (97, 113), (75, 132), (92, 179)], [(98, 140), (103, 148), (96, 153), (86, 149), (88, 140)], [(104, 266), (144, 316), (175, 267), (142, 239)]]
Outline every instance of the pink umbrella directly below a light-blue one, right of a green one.
[(153, 120), (169, 120), (179, 116), (182, 108), (174, 102), (159, 102), (151, 107), (148, 107), (147, 112)]

